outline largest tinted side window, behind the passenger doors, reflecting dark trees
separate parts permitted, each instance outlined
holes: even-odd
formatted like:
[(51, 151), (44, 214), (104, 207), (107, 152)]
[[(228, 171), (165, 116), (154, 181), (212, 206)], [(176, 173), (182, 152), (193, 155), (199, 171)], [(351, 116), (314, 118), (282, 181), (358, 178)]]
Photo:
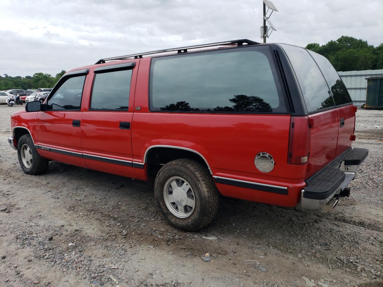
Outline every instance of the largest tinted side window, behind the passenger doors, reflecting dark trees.
[(150, 110), (285, 113), (269, 51), (244, 47), (153, 58)]

